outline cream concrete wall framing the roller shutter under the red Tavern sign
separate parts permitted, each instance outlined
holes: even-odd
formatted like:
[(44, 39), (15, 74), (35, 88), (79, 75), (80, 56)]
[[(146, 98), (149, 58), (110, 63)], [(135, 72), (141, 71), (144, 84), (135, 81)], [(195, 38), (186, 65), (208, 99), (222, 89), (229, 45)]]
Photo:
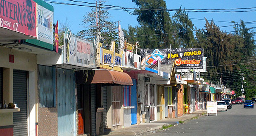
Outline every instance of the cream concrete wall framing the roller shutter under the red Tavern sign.
[[(14, 63), (9, 62), (9, 55), (14, 55)], [(36, 54), (0, 47), (0, 67), (3, 68), (3, 100), (7, 104), (13, 102), (13, 70), (28, 71), (28, 135), (36, 135), (36, 122), (38, 121)], [(0, 126), (13, 125), (13, 113), (1, 113), (0, 111), (0, 120)]]

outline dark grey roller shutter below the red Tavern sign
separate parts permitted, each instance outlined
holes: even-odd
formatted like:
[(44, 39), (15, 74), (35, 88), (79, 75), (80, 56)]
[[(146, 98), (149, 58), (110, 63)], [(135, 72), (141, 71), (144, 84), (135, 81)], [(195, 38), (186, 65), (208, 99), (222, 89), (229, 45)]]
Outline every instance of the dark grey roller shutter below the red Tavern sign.
[(27, 105), (27, 72), (13, 70), (13, 102), (21, 109), (13, 113), (13, 135), (27, 136), (28, 105)]

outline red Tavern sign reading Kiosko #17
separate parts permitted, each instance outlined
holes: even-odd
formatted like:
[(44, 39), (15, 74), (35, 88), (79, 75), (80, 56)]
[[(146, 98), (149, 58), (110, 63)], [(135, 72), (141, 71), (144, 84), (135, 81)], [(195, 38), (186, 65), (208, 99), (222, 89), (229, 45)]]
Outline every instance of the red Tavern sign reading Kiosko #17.
[(37, 37), (36, 9), (33, 0), (1, 0), (0, 27)]

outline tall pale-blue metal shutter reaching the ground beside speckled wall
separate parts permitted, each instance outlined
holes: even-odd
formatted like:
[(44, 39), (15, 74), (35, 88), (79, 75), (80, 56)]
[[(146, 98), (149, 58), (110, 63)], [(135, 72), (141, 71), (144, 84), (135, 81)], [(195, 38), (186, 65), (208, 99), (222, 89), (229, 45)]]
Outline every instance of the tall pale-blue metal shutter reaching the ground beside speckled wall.
[(75, 81), (72, 70), (57, 69), (58, 135), (76, 135)]

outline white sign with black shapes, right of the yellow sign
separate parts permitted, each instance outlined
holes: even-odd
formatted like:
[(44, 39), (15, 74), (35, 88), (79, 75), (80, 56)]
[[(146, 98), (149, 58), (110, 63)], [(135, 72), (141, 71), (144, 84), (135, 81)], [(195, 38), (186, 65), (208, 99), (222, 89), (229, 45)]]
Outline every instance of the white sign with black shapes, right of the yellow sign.
[(132, 52), (123, 51), (123, 66), (141, 70), (141, 56)]

